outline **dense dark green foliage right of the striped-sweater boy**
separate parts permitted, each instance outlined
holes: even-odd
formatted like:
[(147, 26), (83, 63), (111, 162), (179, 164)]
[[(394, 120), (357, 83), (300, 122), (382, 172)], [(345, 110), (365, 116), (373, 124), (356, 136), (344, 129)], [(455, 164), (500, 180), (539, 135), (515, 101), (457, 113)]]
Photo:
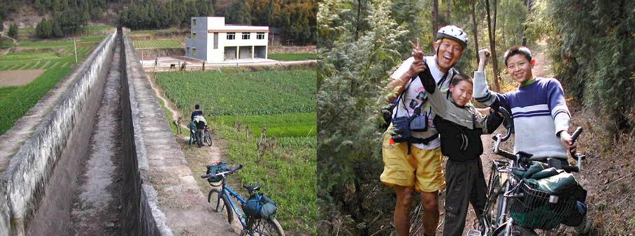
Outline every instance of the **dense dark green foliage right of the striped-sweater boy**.
[(544, 1), (534, 19), (550, 36), (553, 69), (566, 94), (596, 110), (613, 133), (635, 128), (633, 9), (627, 0)]

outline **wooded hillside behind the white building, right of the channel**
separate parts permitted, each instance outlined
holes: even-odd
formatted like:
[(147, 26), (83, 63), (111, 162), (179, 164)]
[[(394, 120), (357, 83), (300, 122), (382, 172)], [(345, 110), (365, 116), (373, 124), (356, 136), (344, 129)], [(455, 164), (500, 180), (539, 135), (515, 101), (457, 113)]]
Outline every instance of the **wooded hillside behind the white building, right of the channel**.
[(268, 25), (280, 29), (283, 42), (314, 44), (315, 1), (136, 1), (122, 10), (120, 22), (130, 29), (189, 28), (190, 17), (224, 16), (227, 24)]

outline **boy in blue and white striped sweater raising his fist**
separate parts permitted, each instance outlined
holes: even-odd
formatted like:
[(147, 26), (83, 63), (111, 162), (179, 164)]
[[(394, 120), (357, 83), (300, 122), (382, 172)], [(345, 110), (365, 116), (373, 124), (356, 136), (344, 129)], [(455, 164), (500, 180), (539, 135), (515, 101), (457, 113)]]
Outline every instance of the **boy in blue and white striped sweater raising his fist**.
[(573, 148), (569, 135), (571, 114), (564, 100), (562, 85), (555, 78), (534, 78), (531, 68), (536, 60), (527, 47), (514, 46), (504, 54), (507, 71), (520, 87), (506, 94), (487, 89), (485, 64), (490, 50), (478, 52), (478, 71), (474, 72), (474, 98), (485, 105), (511, 110), (514, 119), (514, 153), (534, 154), (531, 159), (560, 158)]

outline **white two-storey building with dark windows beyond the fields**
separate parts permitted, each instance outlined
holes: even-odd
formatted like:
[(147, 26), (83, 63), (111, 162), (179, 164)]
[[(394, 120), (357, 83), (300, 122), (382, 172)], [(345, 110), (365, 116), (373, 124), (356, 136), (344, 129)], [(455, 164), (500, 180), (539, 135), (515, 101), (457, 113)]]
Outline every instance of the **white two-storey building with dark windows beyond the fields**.
[(192, 17), (185, 56), (217, 62), (267, 57), (269, 27), (225, 24), (225, 17)]

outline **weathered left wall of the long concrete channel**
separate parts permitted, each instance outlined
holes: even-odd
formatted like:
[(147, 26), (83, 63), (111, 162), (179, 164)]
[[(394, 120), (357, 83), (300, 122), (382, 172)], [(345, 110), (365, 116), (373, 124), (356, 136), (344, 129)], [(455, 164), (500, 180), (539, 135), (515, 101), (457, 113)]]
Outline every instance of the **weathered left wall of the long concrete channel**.
[[(0, 174), (0, 235), (37, 234), (40, 232), (38, 228), (47, 230), (48, 226), (52, 227), (48, 229), (48, 234), (64, 233), (59, 230), (67, 226), (69, 212), (55, 213), (64, 212), (63, 207), (70, 205), (76, 179), (69, 177), (76, 177), (73, 169), (77, 169), (72, 165), (82, 155), (81, 152), (85, 152), (85, 149), (66, 147), (82, 145), (82, 142), (88, 141), (86, 137), (90, 137), (90, 129), (82, 129), (86, 130), (85, 126), (92, 124), (92, 117), (99, 108), (99, 102), (94, 105), (92, 101), (99, 101), (103, 94), (101, 88), (113, 54), (115, 36), (110, 34), (106, 37), (66, 78), (73, 84), (64, 91), (66, 94), (56, 102), (55, 109), (43, 117)], [(38, 109), (37, 105), (34, 109)], [(55, 217), (46, 218), (48, 213), (55, 214)], [(41, 217), (47, 221), (34, 221)], [(38, 228), (31, 229), (31, 225)]]

